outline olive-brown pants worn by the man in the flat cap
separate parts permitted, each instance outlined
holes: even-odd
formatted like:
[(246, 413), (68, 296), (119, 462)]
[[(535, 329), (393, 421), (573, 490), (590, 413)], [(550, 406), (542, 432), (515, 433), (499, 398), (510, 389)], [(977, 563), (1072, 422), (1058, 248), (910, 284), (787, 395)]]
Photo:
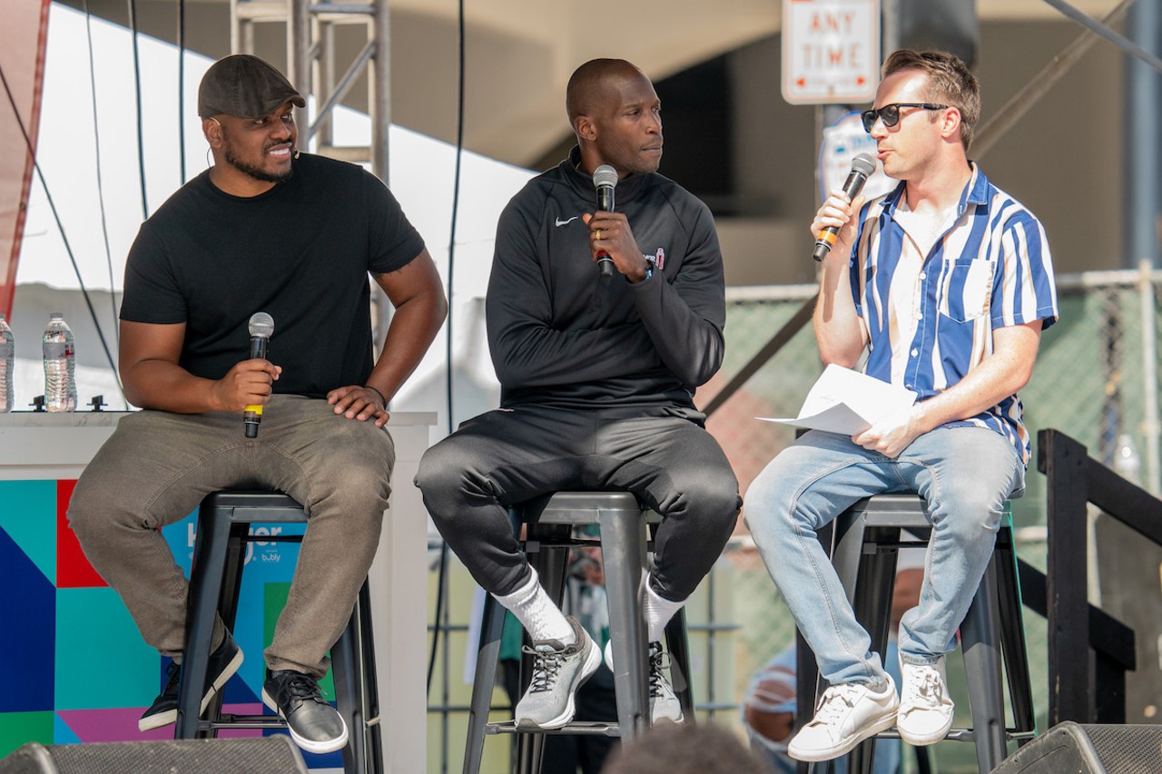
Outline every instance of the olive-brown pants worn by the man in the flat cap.
[(375, 556), (394, 464), (385, 429), (336, 415), (324, 400), (274, 395), (253, 439), (237, 413), (136, 411), (77, 482), (69, 522), (145, 642), (180, 658), (187, 581), (158, 528), (218, 489), (290, 495), (307, 531), (266, 665), (317, 679)]

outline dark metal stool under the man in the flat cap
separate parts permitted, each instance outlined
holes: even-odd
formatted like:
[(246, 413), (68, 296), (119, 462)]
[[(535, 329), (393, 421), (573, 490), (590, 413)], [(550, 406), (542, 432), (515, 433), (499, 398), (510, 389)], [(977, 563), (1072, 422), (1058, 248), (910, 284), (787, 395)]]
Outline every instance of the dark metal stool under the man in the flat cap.
[[(215, 492), (202, 500), (198, 514), (198, 537), (189, 573), (186, 612), (186, 647), (178, 695), (175, 739), (215, 737), (218, 729), (285, 729), (286, 722), (268, 715), (223, 715), (222, 691), (207, 708), (208, 719), (199, 718), (200, 687), (206, 683), (214, 616), (234, 626), (250, 540), (301, 542), (297, 535), (250, 536), (251, 524), (302, 523), (307, 514), (294, 499), (275, 492)], [(375, 687), (375, 651), (371, 628), (371, 595), (367, 581), (351, 612), (347, 628), (331, 646), (331, 676), (336, 704), (347, 724), (350, 738), (343, 748), (347, 774), (383, 771), (379, 729), (379, 694)]]

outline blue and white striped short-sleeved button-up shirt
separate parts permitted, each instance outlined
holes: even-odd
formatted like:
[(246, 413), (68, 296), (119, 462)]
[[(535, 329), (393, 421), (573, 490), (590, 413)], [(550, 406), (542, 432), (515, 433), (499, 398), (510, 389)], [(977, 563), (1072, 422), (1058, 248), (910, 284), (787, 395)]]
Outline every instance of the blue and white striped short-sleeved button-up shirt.
[[(916, 392), (921, 401), (957, 384), (991, 354), (996, 328), (1041, 320), (1043, 330), (1057, 318), (1045, 229), (971, 166), (955, 217), (921, 261), (905, 258), (916, 248), (897, 220), (903, 182), (863, 206), (852, 249), (852, 294), (869, 341), (863, 371)], [(914, 294), (913, 302), (901, 304), (901, 294)], [(1017, 395), (947, 427), (955, 425), (996, 430), (1028, 464), (1028, 431)]]

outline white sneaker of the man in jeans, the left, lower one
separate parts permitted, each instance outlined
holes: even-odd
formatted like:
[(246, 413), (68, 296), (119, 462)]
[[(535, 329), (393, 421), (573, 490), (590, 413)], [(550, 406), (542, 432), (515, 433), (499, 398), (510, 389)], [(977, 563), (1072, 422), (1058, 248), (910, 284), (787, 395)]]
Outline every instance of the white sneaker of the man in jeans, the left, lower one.
[(899, 697), (891, 675), (885, 676), (880, 690), (844, 682), (823, 691), (815, 717), (795, 734), (787, 754), (803, 761), (831, 760), (890, 729), (896, 722)]

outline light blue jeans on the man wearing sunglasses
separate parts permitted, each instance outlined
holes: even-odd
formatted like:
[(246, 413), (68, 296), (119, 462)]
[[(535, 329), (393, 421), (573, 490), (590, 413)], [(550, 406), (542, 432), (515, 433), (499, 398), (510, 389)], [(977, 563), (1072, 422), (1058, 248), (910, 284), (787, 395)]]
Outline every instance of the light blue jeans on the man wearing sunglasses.
[(751, 485), (745, 517), (767, 571), (831, 683), (878, 685), (883, 664), (856, 622), (816, 530), (862, 497), (917, 493), (928, 503), (932, 537), (916, 608), (899, 626), (901, 658), (932, 664), (955, 633), (992, 556), (1005, 500), (1025, 488), (1025, 466), (999, 433), (938, 428), (896, 459), (812, 430)]

